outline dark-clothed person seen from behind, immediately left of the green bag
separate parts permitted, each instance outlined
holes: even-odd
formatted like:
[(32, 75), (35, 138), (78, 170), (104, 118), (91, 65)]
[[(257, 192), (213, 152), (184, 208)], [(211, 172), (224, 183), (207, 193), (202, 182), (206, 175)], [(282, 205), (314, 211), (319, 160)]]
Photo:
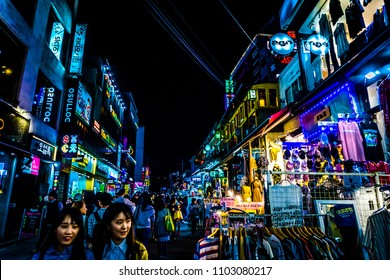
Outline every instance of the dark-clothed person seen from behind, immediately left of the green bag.
[(164, 198), (159, 195), (154, 201), (156, 211), (156, 223), (154, 226), (154, 237), (157, 239), (157, 253), (160, 260), (167, 258), (168, 242), (170, 241), (170, 232), (165, 229), (164, 217), (170, 215), (165, 205)]

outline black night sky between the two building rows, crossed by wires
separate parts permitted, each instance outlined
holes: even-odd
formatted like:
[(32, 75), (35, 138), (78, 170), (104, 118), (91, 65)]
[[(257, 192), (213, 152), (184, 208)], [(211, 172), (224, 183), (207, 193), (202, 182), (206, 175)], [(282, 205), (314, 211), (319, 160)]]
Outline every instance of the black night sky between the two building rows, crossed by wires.
[(80, 0), (86, 52), (107, 59), (132, 93), (152, 173), (186, 169), (224, 113), (224, 80), (281, 2)]

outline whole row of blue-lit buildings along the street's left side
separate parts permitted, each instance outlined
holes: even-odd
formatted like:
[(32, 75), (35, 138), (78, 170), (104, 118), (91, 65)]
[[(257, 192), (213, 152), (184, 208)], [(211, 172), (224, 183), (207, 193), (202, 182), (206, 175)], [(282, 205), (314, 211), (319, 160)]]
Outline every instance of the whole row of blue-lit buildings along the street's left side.
[(50, 190), (64, 203), (130, 191), (135, 158), (143, 164), (135, 102), (107, 60), (84, 53), (88, 24), (77, 22), (77, 7), (0, 1), (1, 241), (38, 233)]

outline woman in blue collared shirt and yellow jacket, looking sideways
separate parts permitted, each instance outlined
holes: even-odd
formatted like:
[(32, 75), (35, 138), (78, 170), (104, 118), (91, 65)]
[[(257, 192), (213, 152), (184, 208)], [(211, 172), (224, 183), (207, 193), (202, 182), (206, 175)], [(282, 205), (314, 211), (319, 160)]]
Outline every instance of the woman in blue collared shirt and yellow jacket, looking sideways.
[(97, 260), (147, 260), (148, 251), (134, 234), (134, 217), (124, 203), (111, 203), (104, 212), (92, 250)]

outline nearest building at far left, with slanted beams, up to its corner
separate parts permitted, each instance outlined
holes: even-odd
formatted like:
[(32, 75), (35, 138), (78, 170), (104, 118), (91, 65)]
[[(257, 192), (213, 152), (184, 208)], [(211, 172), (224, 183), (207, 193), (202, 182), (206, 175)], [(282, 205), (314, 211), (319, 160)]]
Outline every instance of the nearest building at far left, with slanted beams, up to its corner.
[(2, 0), (0, 7), (0, 238), (7, 239), (18, 233), (23, 211), (57, 183), (77, 1)]

